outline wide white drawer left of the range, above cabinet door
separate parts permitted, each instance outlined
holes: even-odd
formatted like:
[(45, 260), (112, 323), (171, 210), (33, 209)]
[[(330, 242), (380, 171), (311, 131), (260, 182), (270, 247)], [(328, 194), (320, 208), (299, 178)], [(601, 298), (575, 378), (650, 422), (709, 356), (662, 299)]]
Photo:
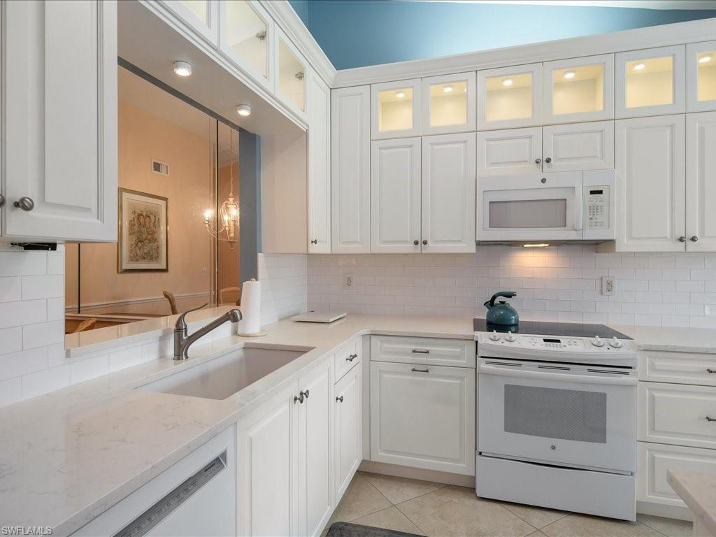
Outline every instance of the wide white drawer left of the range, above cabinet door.
[(475, 342), (431, 337), (372, 336), (370, 359), (377, 362), (475, 367)]

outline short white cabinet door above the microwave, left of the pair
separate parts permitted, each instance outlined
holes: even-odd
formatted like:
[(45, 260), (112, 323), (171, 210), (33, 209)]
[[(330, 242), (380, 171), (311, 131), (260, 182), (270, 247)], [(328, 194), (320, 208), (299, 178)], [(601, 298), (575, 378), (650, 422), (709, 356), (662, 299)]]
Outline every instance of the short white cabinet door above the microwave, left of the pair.
[(542, 129), (478, 132), (478, 177), (542, 171)]

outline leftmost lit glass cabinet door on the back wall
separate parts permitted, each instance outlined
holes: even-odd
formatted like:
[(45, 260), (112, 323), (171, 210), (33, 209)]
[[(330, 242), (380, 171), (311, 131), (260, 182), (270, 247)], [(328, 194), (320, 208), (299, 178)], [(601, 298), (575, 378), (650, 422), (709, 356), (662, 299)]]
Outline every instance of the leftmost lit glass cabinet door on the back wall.
[(420, 79), (371, 86), (373, 140), (420, 136)]

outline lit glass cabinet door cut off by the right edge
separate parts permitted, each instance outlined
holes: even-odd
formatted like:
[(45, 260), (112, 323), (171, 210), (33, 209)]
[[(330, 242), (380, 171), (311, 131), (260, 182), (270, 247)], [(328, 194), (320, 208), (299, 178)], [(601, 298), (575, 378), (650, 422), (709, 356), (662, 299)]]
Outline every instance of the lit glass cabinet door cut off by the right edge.
[(716, 41), (686, 46), (687, 112), (716, 110)]

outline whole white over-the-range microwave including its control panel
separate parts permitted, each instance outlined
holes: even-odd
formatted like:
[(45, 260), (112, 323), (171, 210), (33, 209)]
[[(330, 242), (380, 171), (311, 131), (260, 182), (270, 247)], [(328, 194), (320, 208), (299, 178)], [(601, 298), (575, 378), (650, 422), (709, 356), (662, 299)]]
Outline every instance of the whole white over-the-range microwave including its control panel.
[(478, 242), (614, 239), (614, 170), (478, 178)]

